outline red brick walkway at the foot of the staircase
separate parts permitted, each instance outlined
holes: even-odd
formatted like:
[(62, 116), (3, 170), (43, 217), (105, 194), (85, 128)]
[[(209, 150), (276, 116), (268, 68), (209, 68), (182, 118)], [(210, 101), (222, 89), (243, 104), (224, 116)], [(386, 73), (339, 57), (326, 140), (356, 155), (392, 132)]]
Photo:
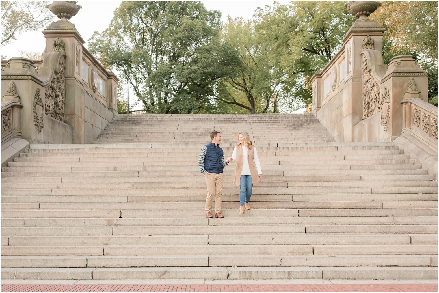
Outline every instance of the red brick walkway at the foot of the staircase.
[(4, 284), (2, 292), (438, 292), (438, 284)]

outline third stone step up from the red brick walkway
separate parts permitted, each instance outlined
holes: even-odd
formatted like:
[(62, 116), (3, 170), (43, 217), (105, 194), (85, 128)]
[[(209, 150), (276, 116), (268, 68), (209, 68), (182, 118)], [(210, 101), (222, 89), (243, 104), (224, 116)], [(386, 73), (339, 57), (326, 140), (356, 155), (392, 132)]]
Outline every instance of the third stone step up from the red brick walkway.
[[(2, 237), (5, 238), (5, 237)], [(5, 256), (152, 255), (433, 255), (437, 244), (253, 244), (253, 245), (4, 245)]]

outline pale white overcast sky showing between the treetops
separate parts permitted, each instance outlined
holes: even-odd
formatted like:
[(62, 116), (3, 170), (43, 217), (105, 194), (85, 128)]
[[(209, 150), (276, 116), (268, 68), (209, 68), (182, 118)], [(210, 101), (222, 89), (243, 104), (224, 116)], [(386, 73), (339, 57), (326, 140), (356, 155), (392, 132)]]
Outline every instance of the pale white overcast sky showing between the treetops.
[[(113, 18), (113, 11), (119, 7), (122, 1), (78, 1), (78, 5), (83, 8), (79, 10), (70, 21), (75, 24), (76, 29), (83, 39), (87, 40), (95, 31), (103, 31), (108, 28)], [(219, 10), (222, 13), (221, 20), (227, 21), (227, 15), (232, 18), (242, 16), (245, 19), (252, 18), (257, 7), (273, 5), (270, 1), (202, 1), (209, 10)], [(286, 1), (280, 1), (284, 3)], [(58, 18), (56, 18), (58, 20)], [(1, 46), (1, 54), (11, 57), (18, 57), (21, 50), (34, 51), (42, 53), (45, 46), (45, 40), (41, 33), (43, 29), (37, 32), (27, 32), (17, 36), (16, 40), (11, 41), (7, 46)], [(85, 44), (87, 47), (87, 44)]]

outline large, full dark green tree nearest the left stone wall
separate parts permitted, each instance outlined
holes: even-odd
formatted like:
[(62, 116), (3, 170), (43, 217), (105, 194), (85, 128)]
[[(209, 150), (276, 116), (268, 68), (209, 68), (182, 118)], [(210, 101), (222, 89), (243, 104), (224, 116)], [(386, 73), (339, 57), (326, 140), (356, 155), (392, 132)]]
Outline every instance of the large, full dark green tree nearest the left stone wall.
[(89, 49), (122, 72), (148, 113), (209, 113), (236, 51), (218, 38), (219, 11), (199, 1), (124, 1)]

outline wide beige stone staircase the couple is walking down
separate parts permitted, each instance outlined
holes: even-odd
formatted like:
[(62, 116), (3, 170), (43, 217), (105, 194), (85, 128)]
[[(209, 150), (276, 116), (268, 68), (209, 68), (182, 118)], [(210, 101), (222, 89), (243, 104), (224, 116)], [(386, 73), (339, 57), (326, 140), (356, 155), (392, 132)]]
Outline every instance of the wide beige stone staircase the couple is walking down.
[[(205, 218), (198, 154), (256, 144)], [(311, 114), (118, 115), (93, 144), (32, 145), (1, 173), (3, 279), (437, 279), (438, 182), (392, 143), (337, 143)]]

